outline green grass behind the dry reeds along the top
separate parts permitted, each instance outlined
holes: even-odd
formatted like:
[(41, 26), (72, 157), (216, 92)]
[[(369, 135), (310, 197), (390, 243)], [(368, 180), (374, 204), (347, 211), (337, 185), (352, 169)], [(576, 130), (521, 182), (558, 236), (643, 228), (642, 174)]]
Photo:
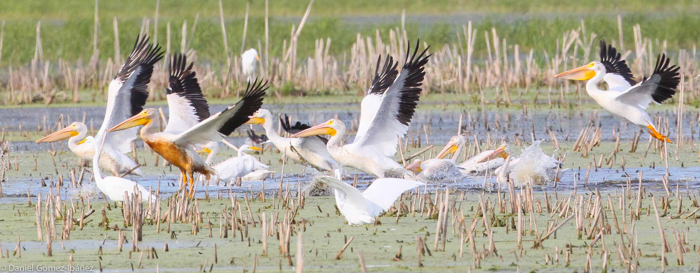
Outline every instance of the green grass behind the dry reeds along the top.
[[(36, 24), (41, 21), (41, 38), (43, 56), (49, 61), (63, 59), (66, 61), (82, 60), (87, 62), (92, 56), (92, 31), (94, 27), (94, 3), (92, 1), (68, 0), (57, 3), (45, 1), (10, 1), (0, 4), (0, 20), (5, 21), (4, 43), (1, 66), (26, 65), (34, 57)], [(374, 36), (378, 29), (380, 36), (388, 40), (388, 30), (400, 27), (400, 20), (395, 22), (381, 17), (384, 15), (400, 16), (402, 6), (407, 10), (407, 34), (410, 38), (440, 48), (442, 45), (458, 43), (456, 34), (462, 32), (462, 25), (468, 19), (439, 15), (484, 15), (476, 21), (477, 33), (475, 57), (486, 54), (483, 31), (495, 28), (501, 38), (513, 45), (518, 43), (521, 52), (535, 49), (538, 58), (544, 58), (543, 51), (552, 53), (556, 50), (556, 40), (561, 39), (564, 31), (577, 29), (581, 20), (585, 22), (587, 33), (594, 32), (598, 38), (617, 39), (617, 13), (624, 13), (623, 26), (625, 44), (633, 45), (632, 26), (640, 24), (643, 36), (654, 40), (667, 40), (671, 51), (679, 48), (691, 49), (698, 43), (696, 36), (687, 35), (689, 29), (700, 28), (699, 5), (692, 1), (679, 1), (673, 5), (654, 1), (625, 2), (622, 6), (608, 4), (608, 1), (594, 3), (573, 3), (572, 1), (467, 1), (458, 3), (446, 1), (400, 1), (391, 6), (377, 5), (370, 1), (318, 0), (314, 2), (309, 21), (300, 36), (298, 56), (300, 59), (313, 54), (314, 43), (318, 38), (330, 38), (330, 54), (342, 58), (342, 53), (350, 50), (356, 41), (356, 34)], [(404, 3), (404, 4), (402, 4)], [(487, 4), (489, 3), (489, 4)], [(123, 6), (118, 1), (99, 3), (98, 47), (100, 57), (106, 60), (114, 56), (114, 34), (112, 18), (116, 17), (120, 30), (120, 51), (128, 53), (134, 37), (141, 28), (143, 17), (151, 18), (153, 35), (153, 15), (155, 3), (148, 1), (130, 3)], [(270, 54), (280, 56), (282, 41), (288, 40), (292, 24), (298, 24), (307, 3), (304, 1), (272, 1), (270, 3), (271, 20), (269, 23)], [(4, 6), (4, 7), (3, 7)], [(244, 1), (226, 1), (224, 3), (226, 29), (230, 54), (239, 54), (243, 32)], [(617, 6), (617, 7), (615, 7)], [(653, 10), (653, 11), (652, 11)], [(195, 15), (200, 14), (194, 36), (188, 48), (197, 50), (200, 63), (221, 64), (225, 60), (221, 25), (218, 17), (218, 1), (185, 1), (174, 3), (162, 1), (158, 22), (158, 42), (165, 46), (167, 22), (171, 24), (172, 50), (181, 50), (181, 27), (186, 20), (190, 33)], [(340, 14), (343, 17), (338, 17)], [(435, 15), (430, 22), (421, 21), (412, 15)], [(370, 16), (369, 19), (358, 16)], [(372, 17), (376, 16), (376, 17)], [(474, 16), (471, 16), (474, 17)], [(470, 18), (471, 18), (470, 17)], [(419, 17), (423, 18), (423, 17)], [(465, 17), (466, 18), (466, 17)], [(251, 3), (251, 18), (245, 47), (258, 47), (265, 41), (264, 2)], [(189, 34), (188, 34), (189, 36)], [(264, 47), (264, 44), (263, 44)], [(654, 48), (659, 48), (654, 47)]]

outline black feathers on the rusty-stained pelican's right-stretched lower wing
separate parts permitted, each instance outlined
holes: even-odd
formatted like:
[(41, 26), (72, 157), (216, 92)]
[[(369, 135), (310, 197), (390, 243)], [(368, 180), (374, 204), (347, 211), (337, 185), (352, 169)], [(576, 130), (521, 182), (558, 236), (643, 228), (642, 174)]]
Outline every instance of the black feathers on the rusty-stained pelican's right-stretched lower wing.
[(246, 123), (249, 119), (248, 117), (255, 114), (262, 107), (262, 98), (265, 96), (265, 91), (268, 88), (267, 81), (262, 82), (262, 80), (258, 81), (258, 79), (255, 79), (252, 84), (248, 82), (248, 87), (246, 87), (241, 100), (222, 111), (226, 112), (237, 108), (235, 114), (218, 129), (218, 132), (223, 135), (230, 135), (236, 128)]

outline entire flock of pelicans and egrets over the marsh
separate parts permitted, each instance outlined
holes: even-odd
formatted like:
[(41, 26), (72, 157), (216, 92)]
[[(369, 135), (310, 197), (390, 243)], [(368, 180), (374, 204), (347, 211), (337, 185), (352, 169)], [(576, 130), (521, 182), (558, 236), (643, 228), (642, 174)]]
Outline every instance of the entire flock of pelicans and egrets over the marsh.
[[(455, 135), (435, 156), (427, 160), (416, 159), (402, 165), (393, 156), (397, 152), (399, 138), (406, 135), (421, 94), (425, 66), (430, 54), (428, 47), (419, 52), (410, 45), (401, 70), (399, 61), (387, 57), (382, 63), (377, 59), (374, 80), (360, 107), (358, 130), (351, 142), (344, 143), (346, 126), (339, 119), (329, 119), (316, 126), (297, 121), (290, 124), (285, 117), (279, 119), (281, 128), (290, 135), (273, 129), (274, 116), (262, 107), (267, 82), (254, 77), (260, 57), (254, 50), (241, 55), (241, 64), (248, 85), (241, 99), (225, 110), (210, 115), (209, 105), (197, 82), (193, 63), (185, 54), (174, 54), (169, 63), (169, 82), (166, 89), (169, 118), (167, 126), (159, 131), (162, 113), (146, 108), (148, 83), (153, 66), (163, 56), (161, 47), (149, 43), (149, 38), (139, 37), (115, 78), (109, 84), (106, 115), (97, 135), (87, 136), (87, 127), (74, 122), (66, 128), (47, 135), (36, 142), (55, 142), (68, 139), (69, 149), (78, 157), (92, 160), (95, 182), (109, 199), (123, 201), (125, 193), (141, 191), (148, 200), (156, 200), (152, 193), (125, 175), (144, 177), (139, 165), (126, 154), (140, 134), (141, 139), (167, 162), (179, 168), (181, 188), (193, 197), (195, 174), (212, 182), (232, 184), (237, 179), (260, 180), (272, 175), (269, 166), (246, 152), (259, 151), (249, 145), (235, 147), (225, 137), (244, 124), (258, 124), (265, 134), (248, 135), (258, 145), (271, 143), (287, 158), (333, 176), (319, 175), (316, 181), (325, 182), (335, 189), (339, 211), (349, 224), (372, 223), (374, 217), (391, 207), (398, 196), (426, 182), (461, 181), (464, 175), (493, 170), (499, 182), (513, 179), (524, 183), (546, 183), (559, 179), (567, 169), (561, 162), (541, 152), (539, 147), (528, 147), (519, 157), (513, 156), (504, 142), (493, 150), (487, 150), (461, 163), (458, 157), (465, 148), (465, 135)], [(601, 60), (556, 75), (556, 78), (588, 80), (586, 90), (601, 107), (625, 121), (640, 126), (652, 138), (670, 142), (654, 127), (645, 112), (651, 102), (661, 103), (675, 94), (679, 78), (677, 66), (668, 66), (665, 55), (659, 56), (654, 73), (636, 82), (626, 62), (615, 47), (601, 40)], [(608, 89), (598, 89), (604, 81)], [(138, 126), (143, 126), (139, 132)], [(328, 137), (326, 137), (326, 135)], [(214, 165), (219, 142), (236, 149), (238, 154)], [(206, 159), (202, 154), (208, 154)], [(378, 177), (362, 193), (342, 182), (339, 168), (353, 168)], [(102, 177), (100, 169), (112, 176)], [(556, 171), (556, 172), (553, 172)], [(552, 175), (554, 173), (554, 175)]]

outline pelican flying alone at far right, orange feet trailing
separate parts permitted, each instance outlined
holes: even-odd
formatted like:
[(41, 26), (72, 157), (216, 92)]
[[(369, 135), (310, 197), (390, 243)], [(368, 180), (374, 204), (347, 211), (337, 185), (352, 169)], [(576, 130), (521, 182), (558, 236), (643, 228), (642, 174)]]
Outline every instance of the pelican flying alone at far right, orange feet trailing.
[[(668, 66), (666, 54), (657, 57), (654, 73), (637, 83), (631, 78), (629, 67), (620, 60), (615, 47), (605, 47), (601, 40), (601, 61), (591, 61), (585, 66), (554, 75), (554, 78), (588, 80), (586, 91), (601, 107), (622, 120), (643, 128), (652, 138), (671, 142), (661, 135), (646, 112), (649, 103), (661, 104), (671, 98), (678, 88), (678, 66)], [(610, 90), (598, 89), (598, 82), (605, 80)]]

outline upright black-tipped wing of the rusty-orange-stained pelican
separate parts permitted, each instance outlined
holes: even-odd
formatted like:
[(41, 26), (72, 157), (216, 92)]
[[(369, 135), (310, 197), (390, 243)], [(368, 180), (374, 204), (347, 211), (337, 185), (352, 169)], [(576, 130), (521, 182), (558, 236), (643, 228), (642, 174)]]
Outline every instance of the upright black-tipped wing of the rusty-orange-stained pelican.
[(209, 117), (209, 105), (202, 94), (194, 63), (187, 66), (187, 57), (180, 54), (170, 64), (168, 89), (168, 125), (165, 132), (180, 133)]

